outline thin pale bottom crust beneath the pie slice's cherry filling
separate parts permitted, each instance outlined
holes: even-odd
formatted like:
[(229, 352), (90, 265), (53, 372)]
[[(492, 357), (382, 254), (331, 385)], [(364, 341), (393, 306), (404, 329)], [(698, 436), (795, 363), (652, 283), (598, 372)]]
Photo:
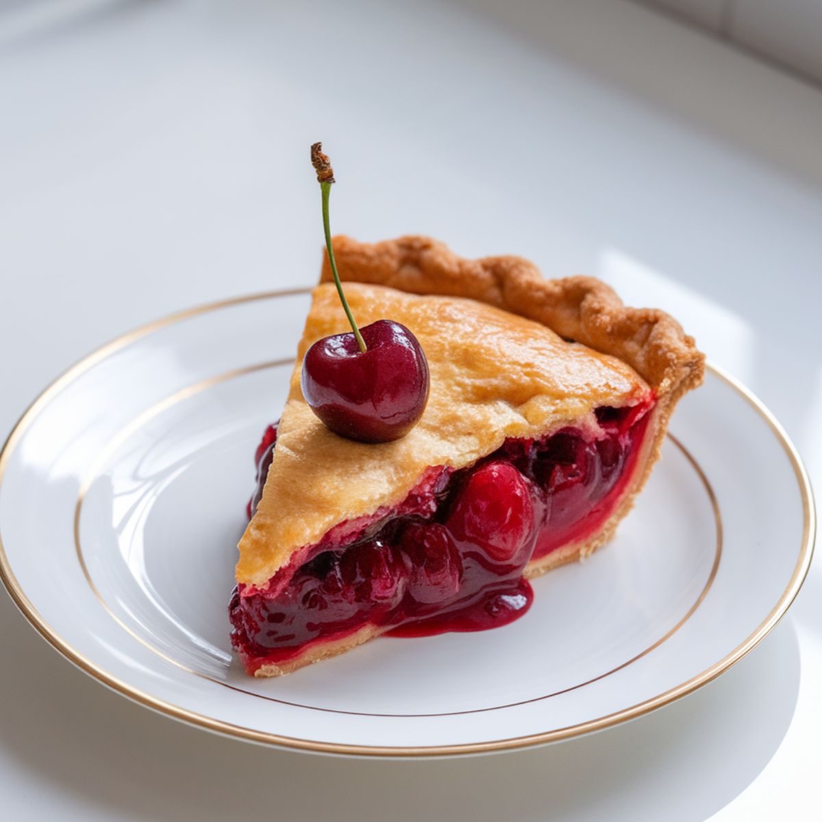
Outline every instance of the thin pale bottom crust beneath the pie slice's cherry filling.
[[(690, 386), (688, 386), (690, 388)], [(687, 389), (685, 389), (687, 390)], [(590, 556), (598, 548), (603, 547), (616, 533), (617, 525), (626, 516), (628, 511), (634, 506), (636, 495), (642, 490), (644, 484), (647, 482), (651, 469), (659, 458), (662, 443), (667, 430), (667, 421), (670, 418), (674, 404), (678, 399), (678, 395), (668, 398), (667, 402), (658, 404), (652, 413), (649, 422), (648, 433), (645, 436), (642, 451), (640, 452), (637, 469), (634, 478), (631, 479), (630, 486), (626, 491), (625, 496), (621, 498), (617, 509), (603, 524), (597, 533), (578, 543), (570, 543), (556, 551), (552, 551), (546, 556), (538, 560), (533, 560), (525, 567), (524, 577), (528, 580), (534, 577), (541, 576), (547, 571), (567, 565), (576, 560), (583, 560)], [(261, 665), (254, 672), (255, 677), (281, 677), (284, 674), (291, 673), (298, 670), (298, 668), (318, 663), (322, 659), (335, 657), (340, 653), (345, 653), (357, 645), (362, 645), (368, 640), (373, 640), (386, 631), (391, 630), (392, 626), (365, 626), (353, 634), (344, 636), (339, 640), (330, 640), (321, 644), (314, 644), (307, 647), (307, 649), (298, 656), (286, 660), (282, 663), (270, 663)]]

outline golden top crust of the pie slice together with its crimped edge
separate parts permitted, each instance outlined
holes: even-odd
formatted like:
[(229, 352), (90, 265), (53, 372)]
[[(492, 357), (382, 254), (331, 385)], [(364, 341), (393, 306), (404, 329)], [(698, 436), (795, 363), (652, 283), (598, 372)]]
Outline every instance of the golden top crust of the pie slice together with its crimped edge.
[[(506, 436), (536, 436), (586, 415), (593, 423), (598, 404), (631, 404), (650, 387), (657, 402), (644, 467), (613, 523), (625, 514), (658, 457), (677, 400), (704, 376), (704, 355), (677, 321), (625, 307), (597, 279), (543, 279), (521, 257), (464, 260), (424, 237), (373, 244), (337, 237), (334, 249), (342, 279), (360, 284), (346, 289), (358, 321), (390, 317), (418, 336), (432, 394), (403, 440), (369, 446), (329, 432), (302, 398), (302, 356), (316, 339), (348, 325), (333, 287), (318, 287), (265, 492), (240, 541), (238, 582), (262, 586), (340, 520), (401, 501), (428, 465), (459, 468)], [(321, 279), (332, 279), (325, 256)], [(391, 289), (424, 296), (403, 299)], [(448, 299), (455, 297), (472, 299)], [(500, 335), (492, 333), (497, 326)], [(358, 477), (356, 489), (340, 476)]]

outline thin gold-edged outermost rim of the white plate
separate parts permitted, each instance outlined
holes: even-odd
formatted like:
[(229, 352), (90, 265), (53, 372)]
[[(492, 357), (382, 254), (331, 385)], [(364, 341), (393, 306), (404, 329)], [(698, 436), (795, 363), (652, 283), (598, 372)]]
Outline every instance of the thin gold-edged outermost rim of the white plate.
[[(193, 316), (205, 314), (208, 312), (217, 311), (221, 308), (233, 307), (241, 305), (245, 302), (254, 302), (256, 300), (274, 299), (281, 297), (297, 296), (300, 294), (311, 293), (312, 287), (302, 287), (293, 289), (277, 289), (273, 291), (266, 291), (261, 293), (247, 294), (241, 297), (228, 298), (218, 300), (215, 302), (206, 302), (195, 307), (189, 307), (179, 312), (174, 312), (160, 318), (159, 320), (145, 323), (136, 328), (127, 331), (125, 334), (119, 335), (108, 343), (101, 345), (85, 357), (78, 360), (66, 371), (62, 372), (56, 379), (54, 379), (48, 386), (42, 390), (39, 395), (31, 402), (29, 407), (22, 413), (21, 418), (16, 422), (12, 431), (7, 436), (5, 443), (0, 450), (0, 489), (2, 489), (2, 481), (6, 473), (7, 464), (11, 459), (12, 452), (21, 439), (30, 423), (37, 417), (39, 410), (44, 408), (46, 404), (65, 388), (67, 385), (75, 381), (77, 377), (94, 367), (104, 358), (109, 357), (112, 353), (124, 348), (128, 344), (141, 339), (146, 335), (170, 326), (175, 323), (187, 320)], [(73, 663), (81, 671), (88, 674), (90, 677), (99, 681), (104, 686), (109, 687), (118, 694), (125, 696), (128, 700), (141, 704), (146, 708), (152, 709), (157, 713), (162, 713), (165, 716), (177, 719), (178, 721), (194, 725), (196, 727), (204, 728), (205, 730), (222, 734), (224, 736), (239, 738), (246, 741), (253, 741), (258, 744), (265, 744), (270, 746), (278, 746), (281, 748), (290, 748), (293, 750), (312, 751), (315, 753), (338, 754), (338, 755), (353, 755), (353, 756), (376, 756), (376, 757), (436, 757), (446, 755), (467, 755), (489, 753), (499, 750), (515, 750), (517, 748), (524, 748), (530, 746), (544, 745), (549, 742), (563, 741), (572, 737), (580, 737), (584, 734), (604, 730), (607, 727), (625, 723), (631, 719), (644, 716), (653, 710), (662, 708), (664, 705), (681, 699), (681, 697), (693, 693), (700, 687), (713, 681), (728, 668), (739, 662), (741, 658), (750, 653), (756, 645), (760, 644), (764, 637), (767, 636), (778, 621), (791, 607), (797, 593), (801, 589), (802, 583), (805, 581), (810, 561), (814, 552), (815, 535), (816, 535), (816, 511), (814, 504), (813, 490), (810, 486), (810, 478), (808, 477), (805, 465), (802, 463), (801, 457), (797, 451), (796, 446), (793, 445), (787, 432), (785, 432), (781, 423), (777, 418), (749, 388), (744, 386), (736, 377), (731, 376), (722, 367), (715, 363), (706, 363), (709, 372), (713, 373), (720, 380), (731, 386), (736, 390), (748, 404), (750, 404), (757, 413), (760, 414), (769, 428), (774, 432), (779, 444), (787, 454), (787, 457), (792, 464), (792, 468), (797, 478), (797, 485), (802, 502), (803, 512), (803, 528), (802, 528), (802, 543), (797, 557), (797, 564), (794, 567), (790, 580), (788, 580), (787, 587), (779, 597), (777, 603), (770, 610), (764, 621), (758, 626), (737, 648), (727, 653), (725, 657), (713, 663), (713, 665), (706, 668), (703, 672), (696, 674), (694, 677), (682, 682), (680, 685), (663, 691), (663, 693), (651, 697), (649, 700), (644, 700), (638, 704), (631, 705), (628, 708), (621, 709), (614, 713), (609, 713), (606, 716), (590, 719), (584, 723), (577, 723), (567, 727), (554, 728), (551, 731), (537, 732), (528, 734), (522, 737), (511, 737), (508, 739), (498, 739), (483, 742), (468, 742), (457, 745), (445, 746), (371, 746), (371, 745), (350, 745), (345, 743), (335, 742), (321, 742), (314, 740), (300, 739), (298, 737), (284, 737), (279, 734), (259, 731), (250, 727), (243, 727), (233, 723), (224, 722), (220, 719), (206, 716), (202, 713), (196, 713), (189, 709), (182, 708), (178, 705), (169, 703), (165, 700), (160, 700), (155, 696), (145, 693), (122, 679), (115, 677), (113, 674), (107, 672), (103, 667), (92, 662), (84, 654), (80, 653), (68, 644), (66, 640), (62, 639), (58, 631), (55, 630), (47, 621), (39, 614), (34, 604), (30, 601), (21, 584), (16, 579), (12, 571), (11, 564), (8, 560), (5, 547), (0, 537), (0, 580), (15, 603), (18, 610), (22, 613), (30, 625), (37, 630), (40, 636), (50, 644), (53, 649), (61, 653), (63, 657), (67, 658), (69, 662)]]

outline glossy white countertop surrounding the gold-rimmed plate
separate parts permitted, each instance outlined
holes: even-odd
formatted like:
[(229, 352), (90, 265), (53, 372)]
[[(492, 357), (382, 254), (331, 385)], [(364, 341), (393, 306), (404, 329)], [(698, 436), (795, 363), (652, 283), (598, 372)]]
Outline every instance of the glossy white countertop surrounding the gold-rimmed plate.
[[(0, 431), (198, 302), (316, 278), (335, 231), (608, 279), (755, 390), (822, 487), (822, 91), (621, 0), (0, 4)], [(755, 445), (755, 444), (752, 444)], [(341, 760), (109, 693), (0, 596), (0, 793), (55, 820), (819, 818), (822, 570), (677, 704), (539, 750)]]

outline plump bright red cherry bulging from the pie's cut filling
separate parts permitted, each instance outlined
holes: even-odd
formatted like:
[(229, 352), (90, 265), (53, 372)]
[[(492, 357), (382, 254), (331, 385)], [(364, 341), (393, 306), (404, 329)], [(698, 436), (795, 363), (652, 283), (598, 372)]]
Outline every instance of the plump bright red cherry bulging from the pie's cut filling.
[(534, 510), (524, 476), (494, 460), (469, 474), (446, 528), (458, 544), (475, 545), (494, 562), (510, 563), (533, 536)]

